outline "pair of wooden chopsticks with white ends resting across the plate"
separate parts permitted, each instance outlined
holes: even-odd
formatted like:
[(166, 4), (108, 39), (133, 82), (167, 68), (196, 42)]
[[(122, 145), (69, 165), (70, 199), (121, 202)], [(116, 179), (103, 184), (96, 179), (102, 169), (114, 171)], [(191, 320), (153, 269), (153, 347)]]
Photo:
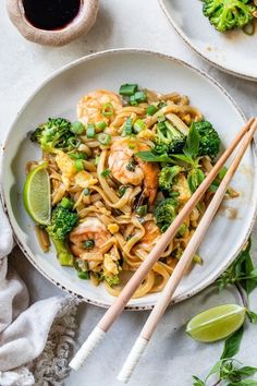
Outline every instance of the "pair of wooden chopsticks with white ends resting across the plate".
[(208, 227), (210, 226), (211, 220), (213, 219), (213, 216), (221, 204), (221, 201), (244, 156), (244, 153), (248, 147), (248, 145), (250, 144), (250, 141), (253, 140), (256, 129), (257, 129), (257, 118), (252, 118), (237, 133), (236, 137), (232, 141), (229, 148), (219, 158), (219, 160), (217, 161), (212, 170), (209, 172), (209, 174), (207, 174), (206, 179), (201, 182), (199, 188), (192, 195), (191, 200), (185, 204), (185, 206), (180, 212), (180, 214), (174, 219), (174, 221), (171, 224), (171, 226), (168, 228), (168, 230), (161, 236), (158, 243), (151, 250), (147, 258), (142, 263), (142, 265), (135, 272), (133, 277), (123, 288), (119, 297), (115, 299), (114, 303), (109, 307), (109, 310), (99, 321), (95, 329), (88, 336), (87, 340), (83, 343), (83, 346), (81, 347), (81, 349), (78, 350), (78, 352), (70, 363), (70, 366), (72, 369), (78, 370), (84, 364), (84, 362), (89, 357), (89, 354), (93, 352), (93, 350), (96, 348), (96, 346), (103, 339), (109, 328), (112, 326), (112, 324), (117, 321), (119, 315), (124, 310), (125, 305), (132, 298), (133, 293), (136, 291), (136, 289), (144, 280), (146, 275), (149, 273), (151, 267), (161, 256), (167, 245), (170, 243), (170, 240), (174, 238), (182, 222), (189, 215), (192, 209), (197, 205), (197, 203), (199, 202), (204, 193), (208, 190), (211, 182), (217, 177), (219, 170), (222, 168), (222, 166), (225, 164), (228, 158), (231, 156), (231, 154), (234, 152), (234, 149), (237, 147), (237, 145), (241, 143), (241, 141), (244, 137), (240, 150), (237, 152), (237, 155), (233, 159), (229, 170), (227, 171), (223, 180), (221, 181), (216, 194), (211, 200), (211, 203), (209, 204), (207, 210), (205, 212), (182, 257), (176, 264), (174, 272), (172, 273), (163, 291), (161, 292), (154, 310), (151, 311), (148, 319), (146, 321), (139, 337), (135, 341), (135, 345), (133, 346), (118, 376), (118, 379), (124, 383), (128, 382), (135, 366), (139, 362), (139, 359), (147, 347), (147, 343), (149, 342), (152, 334), (155, 333), (155, 329), (160, 318), (164, 314), (168, 305), (170, 304), (170, 301), (172, 299), (175, 289), (178, 288), (181, 279), (183, 278), (188, 265), (192, 263), (193, 256), (197, 251), (199, 244), (201, 243), (205, 233)]

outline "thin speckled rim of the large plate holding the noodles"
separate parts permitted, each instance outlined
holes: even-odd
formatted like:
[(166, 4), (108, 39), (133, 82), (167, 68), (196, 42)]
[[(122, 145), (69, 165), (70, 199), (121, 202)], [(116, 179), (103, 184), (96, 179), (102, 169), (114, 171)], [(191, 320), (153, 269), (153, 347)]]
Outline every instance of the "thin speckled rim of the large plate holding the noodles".
[[(89, 304), (94, 304), (100, 307), (109, 307), (110, 304), (106, 303), (105, 301), (97, 301), (97, 300), (91, 300), (88, 299), (86, 295), (83, 295), (82, 293), (77, 293), (74, 292), (73, 290), (70, 290), (69, 288), (66, 288), (63, 284), (58, 282), (54, 278), (50, 277), (48, 275), (47, 272), (45, 272), (36, 262), (36, 260), (34, 257), (30, 256), (29, 252), (26, 250), (26, 245), (23, 244), (23, 242), (19, 239), (19, 236), (15, 231), (15, 225), (12, 224), (12, 220), (9, 216), (9, 210), (7, 207), (7, 201), (5, 201), (5, 193), (4, 193), (4, 189), (3, 189), (3, 176), (4, 176), (4, 170), (3, 170), (3, 166), (4, 166), (4, 155), (5, 155), (5, 146), (9, 143), (9, 141), (11, 140), (11, 135), (13, 133), (13, 129), (15, 128), (16, 122), (19, 121), (21, 114), (24, 112), (24, 110), (26, 109), (26, 107), (29, 105), (29, 102), (34, 99), (34, 97), (40, 92), (40, 89), (42, 87), (45, 87), (48, 83), (50, 83), (56, 76), (64, 73), (65, 71), (79, 65), (83, 62), (87, 62), (94, 59), (99, 59), (106, 56), (112, 56), (112, 55), (122, 55), (122, 53), (143, 53), (143, 55), (149, 55), (149, 56), (156, 56), (159, 58), (163, 58), (166, 60), (169, 60), (171, 62), (178, 63), (179, 65), (183, 65), (186, 69), (193, 70), (193, 72), (196, 72), (197, 74), (199, 74), (200, 76), (203, 76), (204, 79), (208, 80), (212, 86), (216, 86), (229, 100), (230, 102), (233, 105), (233, 107), (236, 109), (238, 116), (242, 118), (242, 123), (243, 121), (246, 121), (245, 116), (243, 113), (243, 111), (241, 110), (241, 108), (237, 106), (237, 104), (235, 102), (235, 100), (231, 97), (231, 95), (223, 88), (223, 86), (217, 82), (215, 79), (212, 79), (209, 74), (207, 74), (205, 71), (198, 69), (197, 67), (194, 67), (189, 63), (187, 63), (184, 60), (181, 60), (179, 58), (174, 58), (170, 55), (166, 55), (166, 53), (161, 53), (158, 51), (154, 51), (154, 50), (148, 50), (148, 49), (142, 49), (142, 48), (115, 48), (115, 49), (109, 49), (109, 50), (103, 50), (103, 51), (99, 51), (99, 52), (95, 52), (85, 57), (82, 57), (77, 60), (74, 60), (63, 67), (61, 67), (59, 70), (52, 72), (49, 76), (47, 76), (45, 79), (45, 81), (42, 81), (37, 87), (36, 89), (30, 94), (30, 96), (25, 100), (24, 105), (22, 106), (22, 108), (19, 110), (15, 119), (13, 120), (12, 124), (10, 125), (8, 135), (5, 137), (4, 144), (3, 144), (3, 148), (2, 148), (2, 157), (1, 157), (1, 169), (0, 169), (0, 198), (2, 202), (2, 206), (3, 209), (10, 220), (12, 230), (13, 230), (13, 234), (14, 234), (14, 239), (16, 241), (16, 243), (19, 244), (20, 249), (22, 250), (22, 252), (24, 253), (24, 255), (26, 256), (26, 258), (32, 263), (32, 265), (44, 276), (46, 277), (49, 281), (51, 281), (52, 284), (54, 284), (57, 287), (63, 289), (65, 292), (78, 298), (82, 301), (85, 301), (86, 303)], [(254, 145), (253, 145), (254, 146)], [(255, 165), (257, 164), (257, 158), (256, 158), (256, 153), (254, 152), (254, 162)], [(11, 209), (10, 209), (11, 210)], [(243, 245), (247, 242), (247, 239), (250, 234), (250, 231), (253, 229), (255, 219), (257, 217), (257, 201), (255, 202), (255, 208), (254, 208), (254, 214), (253, 214), (253, 218), (252, 221), (248, 226), (248, 229), (246, 230), (246, 234), (240, 245), (240, 248), (235, 251), (235, 253), (231, 256), (231, 258), (229, 261), (227, 261), (227, 264), (223, 265), (221, 267), (221, 269), (217, 270), (215, 273), (215, 275), (209, 276), (208, 279), (204, 280), (200, 285), (198, 285), (195, 289), (192, 289), (189, 292), (182, 294), (180, 297), (175, 297), (171, 303), (178, 303), (181, 302), (185, 299), (188, 299), (193, 295), (195, 295), (196, 293), (203, 291), (205, 288), (207, 288), (208, 286), (210, 286), (220, 275), (221, 273), (227, 269), (227, 267), (234, 261), (234, 258), (237, 256), (238, 252), (241, 251), (241, 249), (243, 248)], [(145, 310), (152, 310), (152, 307), (155, 306), (155, 304), (146, 304), (146, 305), (137, 305), (137, 304), (127, 304), (125, 306), (125, 310), (130, 310), (130, 311), (145, 311)]]

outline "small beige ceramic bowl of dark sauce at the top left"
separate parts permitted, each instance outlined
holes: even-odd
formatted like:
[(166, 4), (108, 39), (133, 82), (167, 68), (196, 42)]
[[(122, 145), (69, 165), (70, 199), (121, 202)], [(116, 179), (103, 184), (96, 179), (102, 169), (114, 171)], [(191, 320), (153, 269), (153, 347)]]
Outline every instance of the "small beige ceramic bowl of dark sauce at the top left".
[(64, 46), (87, 34), (96, 22), (99, 0), (8, 0), (11, 22), (27, 39)]

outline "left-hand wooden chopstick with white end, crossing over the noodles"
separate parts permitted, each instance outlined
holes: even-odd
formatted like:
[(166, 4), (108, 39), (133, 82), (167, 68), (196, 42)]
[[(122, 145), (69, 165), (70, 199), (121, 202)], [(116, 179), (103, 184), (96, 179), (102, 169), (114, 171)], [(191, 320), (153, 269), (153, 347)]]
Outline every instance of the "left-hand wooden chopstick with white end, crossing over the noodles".
[(160, 240), (155, 245), (155, 248), (151, 250), (151, 252), (149, 253), (147, 258), (142, 263), (142, 265), (138, 267), (138, 269), (132, 276), (130, 281), (123, 288), (123, 290), (121, 291), (119, 297), (114, 300), (113, 304), (109, 307), (109, 310), (106, 312), (106, 314), (99, 321), (97, 326), (89, 334), (88, 338), (85, 340), (85, 342), (83, 343), (81, 349), (77, 351), (76, 355), (71, 361), (70, 366), (72, 369), (78, 370), (84, 364), (86, 359), (90, 355), (91, 351), (103, 339), (106, 333), (109, 330), (111, 325), (115, 322), (115, 319), (122, 313), (126, 303), (132, 298), (133, 293), (136, 291), (136, 289), (140, 285), (140, 282), (144, 280), (144, 278), (149, 273), (151, 267), (155, 265), (155, 263), (158, 261), (160, 255), (163, 253), (167, 245), (170, 243), (170, 240), (172, 240), (174, 238), (178, 229), (180, 228), (180, 226), (182, 225), (184, 219), (188, 216), (188, 214), (192, 212), (192, 209), (195, 207), (195, 205), (199, 202), (200, 197), (207, 191), (207, 189), (209, 188), (209, 185), (211, 184), (211, 182), (213, 181), (213, 179), (218, 174), (219, 170), (222, 168), (222, 166), (225, 164), (228, 158), (231, 156), (231, 154), (233, 153), (235, 147), (238, 145), (238, 143), (241, 142), (241, 140), (243, 138), (245, 133), (249, 130), (249, 126), (252, 125), (253, 121), (254, 121), (254, 118), (252, 118), (242, 128), (242, 130), (237, 133), (235, 138), (232, 141), (231, 145), (219, 158), (219, 160), (217, 161), (217, 164), (215, 165), (215, 167), (212, 168), (210, 173), (201, 182), (199, 188), (195, 191), (195, 193), (192, 195), (189, 201), (185, 204), (185, 206), (180, 212), (180, 214), (174, 219), (174, 221), (171, 224), (171, 226), (168, 228), (168, 230), (161, 236)]

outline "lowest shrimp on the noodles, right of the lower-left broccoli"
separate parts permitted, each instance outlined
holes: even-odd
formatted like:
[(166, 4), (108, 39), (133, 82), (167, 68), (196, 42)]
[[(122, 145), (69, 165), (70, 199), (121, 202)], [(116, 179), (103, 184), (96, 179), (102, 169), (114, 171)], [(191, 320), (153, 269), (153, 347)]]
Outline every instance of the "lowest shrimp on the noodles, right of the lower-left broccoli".
[[(101, 248), (110, 238), (111, 234), (98, 218), (87, 217), (70, 233), (71, 251), (78, 257), (89, 252), (90, 254), (101, 254), (103, 258)], [(85, 246), (86, 241), (93, 242), (88, 249)]]

